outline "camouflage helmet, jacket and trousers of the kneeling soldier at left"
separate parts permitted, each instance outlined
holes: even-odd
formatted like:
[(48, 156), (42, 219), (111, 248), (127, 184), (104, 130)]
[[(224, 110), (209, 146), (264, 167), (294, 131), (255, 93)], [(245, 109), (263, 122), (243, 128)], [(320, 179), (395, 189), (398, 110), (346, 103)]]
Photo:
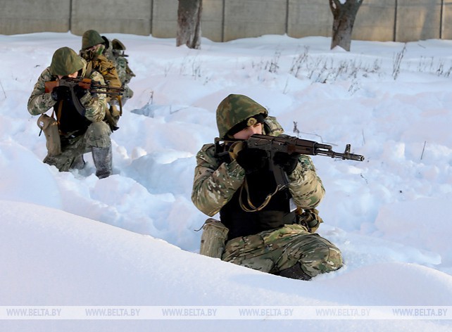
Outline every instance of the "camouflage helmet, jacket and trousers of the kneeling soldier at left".
[[(28, 99), (27, 108), (31, 115), (40, 115), (46, 113), (50, 108), (54, 108), (55, 113), (60, 103), (63, 101), (55, 101), (51, 97), (51, 92), (45, 92), (45, 83), (56, 81), (58, 75), (69, 75), (79, 71), (84, 77), (86, 71), (86, 61), (72, 49), (63, 47), (54, 53), (51, 65), (46, 68), (39, 76), (30, 98)], [(93, 71), (89, 75), (90, 79), (104, 84), (102, 75)], [(83, 153), (92, 152), (93, 148), (106, 148), (111, 150), (110, 134), (111, 130), (103, 122), (107, 108), (106, 95), (97, 94), (92, 96), (87, 93), (80, 102), (86, 111), (84, 117), (87, 120), (87, 129), (85, 132), (60, 132), (62, 152), (59, 155), (47, 155), (44, 162), (49, 165), (55, 165), (61, 172), (68, 171), (75, 167), (77, 161), (82, 160)], [(62, 104), (61, 113), (68, 112), (66, 107), (68, 103)], [(80, 166), (80, 165), (78, 165)]]

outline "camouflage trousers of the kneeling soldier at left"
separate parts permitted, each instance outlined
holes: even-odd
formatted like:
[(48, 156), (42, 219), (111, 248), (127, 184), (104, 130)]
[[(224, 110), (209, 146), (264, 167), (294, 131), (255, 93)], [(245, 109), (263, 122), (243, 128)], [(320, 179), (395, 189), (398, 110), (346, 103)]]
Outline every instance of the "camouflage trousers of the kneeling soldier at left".
[(60, 172), (67, 172), (84, 153), (92, 152), (92, 148), (108, 148), (111, 146), (111, 129), (106, 122), (92, 122), (87, 131), (75, 138), (63, 139), (62, 152), (58, 155), (47, 155), (43, 162), (53, 165)]

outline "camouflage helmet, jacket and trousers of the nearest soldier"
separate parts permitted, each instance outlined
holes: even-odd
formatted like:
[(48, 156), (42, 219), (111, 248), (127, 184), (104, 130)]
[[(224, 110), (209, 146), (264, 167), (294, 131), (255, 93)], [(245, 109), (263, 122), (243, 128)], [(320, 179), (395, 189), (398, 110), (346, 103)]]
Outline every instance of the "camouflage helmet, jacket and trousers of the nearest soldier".
[[(263, 106), (249, 97), (230, 95), (217, 109), (220, 138), (226, 138), (232, 127), (257, 114), (265, 116), (263, 134), (279, 136), (283, 133), (282, 127), (274, 117), (268, 117)], [(218, 212), (222, 215), (249, 174), (246, 174), (237, 160), (225, 161), (219, 158), (215, 154), (214, 144), (206, 144), (201, 148), (196, 155), (196, 163), (192, 201), (208, 216), (212, 217)], [(288, 177), (289, 196), (299, 209), (313, 209), (320, 203), (325, 189), (307, 155), (300, 156), (294, 171)], [(284, 204), (285, 200), (282, 199)], [(242, 215), (249, 213), (251, 218), (253, 214), (261, 212), (245, 212)], [(234, 216), (233, 214), (232, 218)], [(266, 226), (256, 234), (229, 237), (222, 260), (272, 274), (280, 274), (284, 269), (299, 264), (308, 278), (342, 266), (341, 253), (336, 246), (318, 234), (310, 233), (306, 226), (297, 224), (296, 217), (286, 219), (287, 216), (292, 215), (287, 213), (277, 221), (277, 226)], [(233, 229), (230, 231), (234, 234)]]

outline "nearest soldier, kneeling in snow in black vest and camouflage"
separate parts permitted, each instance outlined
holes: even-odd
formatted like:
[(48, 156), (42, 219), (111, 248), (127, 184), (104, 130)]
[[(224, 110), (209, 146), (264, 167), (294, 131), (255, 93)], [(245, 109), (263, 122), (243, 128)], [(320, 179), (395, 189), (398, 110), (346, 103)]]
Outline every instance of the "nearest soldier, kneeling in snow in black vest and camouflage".
[[(325, 189), (312, 160), (307, 155), (275, 155), (275, 164), (289, 178), (287, 189), (275, 191), (265, 151), (244, 143), (253, 134), (282, 134), (275, 117), (239, 94), (227, 96), (216, 117), (220, 139), (239, 141), (206, 144), (197, 153), (192, 201), (208, 216), (220, 212), (221, 222), (211, 224), (224, 225), (227, 232), (221, 259), (302, 280), (339, 269), (339, 249), (315, 234), (322, 222), (315, 207)], [(201, 242), (201, 253), (202, 248)]]

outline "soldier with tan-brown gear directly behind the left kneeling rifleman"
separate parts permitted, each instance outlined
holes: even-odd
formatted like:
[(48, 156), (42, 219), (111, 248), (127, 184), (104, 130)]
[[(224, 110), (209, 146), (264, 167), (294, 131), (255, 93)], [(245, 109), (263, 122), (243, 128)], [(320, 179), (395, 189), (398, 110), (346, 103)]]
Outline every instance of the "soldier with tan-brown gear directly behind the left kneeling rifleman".
[[(82, 36), (82, 49), (80, 56), (87, 60), (87, 70), (96, 70), (100, 72), (106, 84), (110, 87), (122, 87), (115, 64), (103, 55), (106, 49), (106, 41), (96, 30), (87, 30)], [(106, 121), (112, 130), (118, 129), (118, 121), (123, 114), (123, 106), (120, 96), (108, 98), (110, 104), (106, 112)], [(119, 109), (118, 109), (119, 108)]]

